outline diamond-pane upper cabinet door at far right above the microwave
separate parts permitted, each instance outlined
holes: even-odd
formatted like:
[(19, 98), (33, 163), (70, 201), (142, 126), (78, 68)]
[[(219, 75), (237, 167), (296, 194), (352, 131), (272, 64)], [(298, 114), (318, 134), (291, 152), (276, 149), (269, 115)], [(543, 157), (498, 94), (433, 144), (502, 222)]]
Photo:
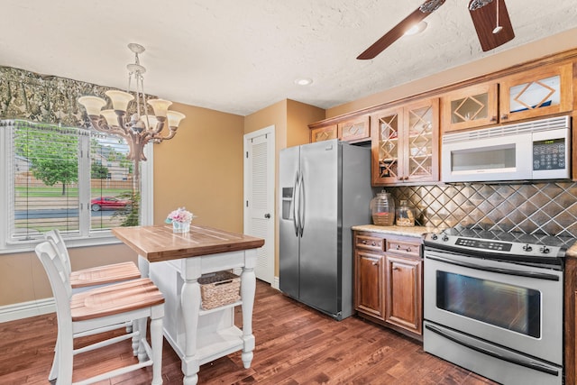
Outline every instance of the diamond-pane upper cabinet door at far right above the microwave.
[(572, 111), (572, 63), (551, 65), (499, 80), (501, 123)]

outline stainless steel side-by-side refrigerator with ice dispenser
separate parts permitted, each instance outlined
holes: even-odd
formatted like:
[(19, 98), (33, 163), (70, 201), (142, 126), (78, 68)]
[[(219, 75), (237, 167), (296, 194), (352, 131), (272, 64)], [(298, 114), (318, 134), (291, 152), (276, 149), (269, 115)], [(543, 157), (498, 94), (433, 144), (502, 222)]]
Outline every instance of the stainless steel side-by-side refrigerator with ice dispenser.
[(353, 315), (353, 232), (371, 222), (371, 149), (338, 140), (279, 154), (279, 288), (341, 320)]

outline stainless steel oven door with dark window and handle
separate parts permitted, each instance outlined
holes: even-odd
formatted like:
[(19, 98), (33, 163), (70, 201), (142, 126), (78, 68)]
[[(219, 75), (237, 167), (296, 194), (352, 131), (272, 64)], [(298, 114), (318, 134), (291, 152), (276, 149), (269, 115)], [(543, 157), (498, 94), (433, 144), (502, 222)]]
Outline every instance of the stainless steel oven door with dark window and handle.
[(426, 320), (563, 365), (563, 271), (427, 250)]

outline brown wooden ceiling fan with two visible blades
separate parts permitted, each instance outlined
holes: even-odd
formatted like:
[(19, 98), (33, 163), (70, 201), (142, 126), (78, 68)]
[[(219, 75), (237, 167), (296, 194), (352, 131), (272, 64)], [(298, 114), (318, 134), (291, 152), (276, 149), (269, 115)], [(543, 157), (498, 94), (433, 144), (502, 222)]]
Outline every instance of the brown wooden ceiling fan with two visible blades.
[[(412, 14), (385, 33), (371, 47), (357, 57), (359, 60), (373, 59), (393, 42), (397, 41), (412, 26), (423, 21), (426, 16), (435, 12), (445, 0), (426, 0)], [(470, 0), (469, 13), (472, 23), (481, 42), (483, 51), (492, 50), (515, 37), (508, 17), (505, 0)]]

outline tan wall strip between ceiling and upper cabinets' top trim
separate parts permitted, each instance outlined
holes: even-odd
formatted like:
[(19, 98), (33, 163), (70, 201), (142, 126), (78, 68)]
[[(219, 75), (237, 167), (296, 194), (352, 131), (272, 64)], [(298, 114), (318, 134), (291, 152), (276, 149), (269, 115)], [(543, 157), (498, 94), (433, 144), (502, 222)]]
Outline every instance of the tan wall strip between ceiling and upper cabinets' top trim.
[[(470, 78), (477, 78), (500, 69), (507, 69), (517, 64), (529, 60), (536, 60), (563, 50), (572, 50), (575, 48), (575, 41), (577, 41), (577, 28), (547, 37), (540, 41), (533, 41), (511, 50), (499, 51), (498, 48), (488, 53), (487, 56), (481, 60), (448, 69), (371, 96), (362, 97), (351, 103), (329, 108), (326, 110), (326, 117), (330, 118), (361, 110), (372, 105), (389, 103)], [(386, 54), (386, 51), (383, 54)]]

